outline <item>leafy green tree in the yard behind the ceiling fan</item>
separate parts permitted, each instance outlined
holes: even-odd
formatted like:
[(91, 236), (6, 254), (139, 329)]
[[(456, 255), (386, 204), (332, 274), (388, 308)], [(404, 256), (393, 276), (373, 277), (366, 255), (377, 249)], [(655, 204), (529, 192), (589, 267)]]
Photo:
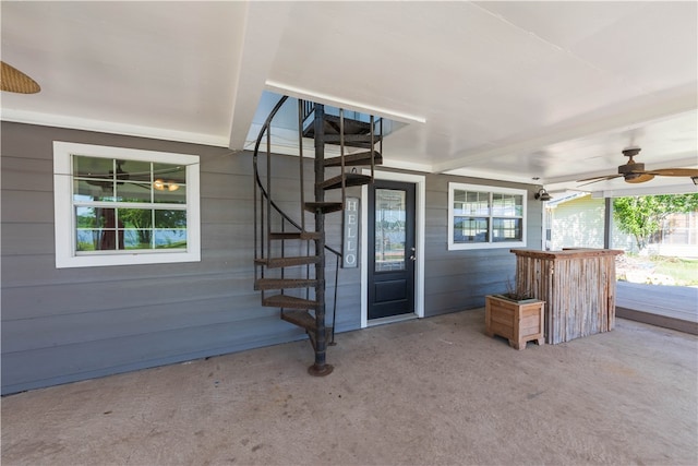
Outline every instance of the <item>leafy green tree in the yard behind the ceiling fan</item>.
[(695, 211), (698, 211), (698, 193), (635, 195), (613, 200), (613, 218), (621, 231), (635, 237), (640, 250), (659, 232), (662, 220), (670, 214)]

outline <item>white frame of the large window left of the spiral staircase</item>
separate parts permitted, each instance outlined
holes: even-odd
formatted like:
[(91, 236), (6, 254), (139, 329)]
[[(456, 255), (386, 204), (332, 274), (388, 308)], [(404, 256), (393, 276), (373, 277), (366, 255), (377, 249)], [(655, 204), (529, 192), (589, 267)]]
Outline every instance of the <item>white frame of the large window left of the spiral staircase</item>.
[[(104, 251), (104, 254), (76, 254), (73, 214), (72, 156), (116, 158), (184, 165), (186, 172), (186, 250)], [(198, 156), (156, 151), (110, 147), (53, 141), (53, 212), (56, 267), (98, 267), (108, 265), (167, 264), (201, 261), (201, 211)]]

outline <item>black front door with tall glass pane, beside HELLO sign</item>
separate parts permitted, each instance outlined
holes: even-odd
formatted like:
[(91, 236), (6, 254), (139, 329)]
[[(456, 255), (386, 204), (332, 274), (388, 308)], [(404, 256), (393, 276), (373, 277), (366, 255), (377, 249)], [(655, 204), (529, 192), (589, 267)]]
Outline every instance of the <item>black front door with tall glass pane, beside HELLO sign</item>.
[(369, 320), (414, 312), (414, 184), (369, 187)]

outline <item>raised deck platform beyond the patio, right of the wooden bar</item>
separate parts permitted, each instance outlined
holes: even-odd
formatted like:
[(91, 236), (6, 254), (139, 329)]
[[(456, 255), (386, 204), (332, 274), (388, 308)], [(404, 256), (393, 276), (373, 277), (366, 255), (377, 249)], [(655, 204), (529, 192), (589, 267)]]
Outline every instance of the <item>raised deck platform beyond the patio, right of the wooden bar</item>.
[(615, 314), (698, 335), (698, 288), (617, 282)]

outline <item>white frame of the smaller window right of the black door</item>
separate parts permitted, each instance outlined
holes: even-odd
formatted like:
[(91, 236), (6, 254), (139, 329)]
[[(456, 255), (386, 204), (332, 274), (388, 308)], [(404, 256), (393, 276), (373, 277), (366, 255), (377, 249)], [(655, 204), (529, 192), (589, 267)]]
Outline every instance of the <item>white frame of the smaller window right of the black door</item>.
[[(454, 200), (455, 200), (455, 191), (478, 191), (478, 192), (488, 192), (490, 193), (490, 201), (492, 201), (492, 194), (518, 194), (522, 200), (522, 215), (521, 215), (521, 240), (520, 241), (492, 241), (492, 219), (493, 218), (507, 218), (498, 215), (493, 215), (492, 210), (490, 210), (489, 218), (489, 229), (488, 229), (488, 242), (454, 242), (454, 217), (456, 216), (454, 213)], [(528, 191), (524, 189), (514, 189), (514, 188), (498, 188), (492, 186), (484, 184), (465, 184), (465, 183), (448, 183), (448, 250), (457, 251), (464, 249), (495, 249), (495, 248), (518, 248), (526, 247), (526, 229), (527, 229), (527, 201), (528, 201)], [(519, 218), (510, 217), (510, 218)]]

